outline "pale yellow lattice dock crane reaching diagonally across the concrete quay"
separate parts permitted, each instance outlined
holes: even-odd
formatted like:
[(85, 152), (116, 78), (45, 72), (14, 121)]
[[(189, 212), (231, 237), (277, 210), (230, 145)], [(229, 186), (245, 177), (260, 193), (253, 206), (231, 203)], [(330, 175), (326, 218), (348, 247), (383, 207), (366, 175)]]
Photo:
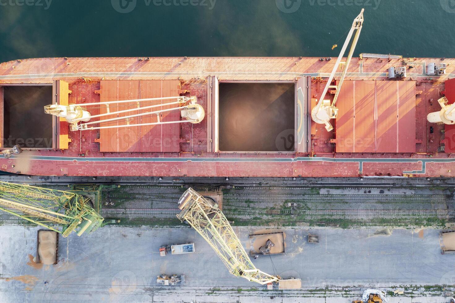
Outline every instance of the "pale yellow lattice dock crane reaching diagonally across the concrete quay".
[(229, 269), (237, 277), (260, 284), (278, 282), (272, 276), (256, 268), (248, 257), (224, 214), (214, 202), (206, 200), (191, 187), (178, 202), (182, 210), (177, 217), (187, 221), (210, 244)]

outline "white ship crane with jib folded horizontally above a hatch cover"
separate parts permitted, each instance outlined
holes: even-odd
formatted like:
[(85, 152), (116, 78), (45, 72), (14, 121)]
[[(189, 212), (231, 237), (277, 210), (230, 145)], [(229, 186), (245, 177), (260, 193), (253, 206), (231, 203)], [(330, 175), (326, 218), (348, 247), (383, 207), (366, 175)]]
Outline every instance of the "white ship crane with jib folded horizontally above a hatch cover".
[[(141, 106), (141, 102), (150, 102), (150, 101), (170, 101), (167, 103), (160, 103), (148, 106)], [(128, 108), (121, 111), (109, 111), (109, 106), (120, 106), (127, 105), (128, 103), (136, 104), (136, 107)], [(87, 111), (86, 107), (90, 106), (106, 106), (106, 112), (99, 115), (91, 115)], [(131, 106), (131, 105), (130, 105)], [(157, 109), (161, 107), (164, 109)], [(203, 107), (200, 104), (197, 104), (196, 96), (186, 97), (186, 96), (177, 96), (177, 97), (162, 97), (162, 98), (147, 98), (147, 99), (134, 99), (134, 100), (119, 100), (119, 101), (106, 101), (106, 102), (94, 102), (94, 103), (84, 103), (84, 104), (70, 104), (68, 106), (60, 104), (51, 104), (44, 107), (44, 111), (47, 114), (51, 114), (57, 117), (64, 118), (68, 123), (71, 124), (71, 131), (78, 130), (88, 130), (88, 129), (103, 129), (103, 128), (120, 128), (120, 127), (132, 127), (132, 126), (147, 126), (147, 125), (157, 125), (157, 124), (170, 124), (170, 123), (199, 123), (204, 119), (205, 112)], [(163, 113), (171, 111), (180, 111), (180, 115), (184, 120), (177, 121), (161, 121), (160, 115)], [(137, 112), (135, 114), (119, 116), (130, 112)], [(113, 116), (108, 118), (108, 116)], [(136, 117), (141, 116), (156, 116), (157, 121), (151, 123), (138, 123), (138, 124), (129, 124), (129, 121), (135, 119)], [(90, 121), (93, 118), (106, 117), (106, 119)], [(115, 124), (115, 125), (103, 125), (109, 123), (116, 123), (118, 121), (126, 121), (125, 124)], [(80, 123), (79, 122), (86, 122)], [(94, 126), (95, 124), (100, 124), (99, 126)]]

